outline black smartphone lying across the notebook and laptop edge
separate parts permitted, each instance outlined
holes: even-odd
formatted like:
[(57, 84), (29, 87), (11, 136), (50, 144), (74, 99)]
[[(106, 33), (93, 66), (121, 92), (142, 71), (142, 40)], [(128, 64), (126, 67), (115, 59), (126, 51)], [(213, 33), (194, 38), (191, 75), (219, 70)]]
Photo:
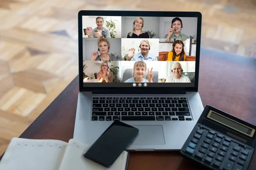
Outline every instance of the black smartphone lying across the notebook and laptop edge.
[(105, 167), (111, 167), (138, 132), (136, 127), (116, 120), (84, 152), (84, 157)]

